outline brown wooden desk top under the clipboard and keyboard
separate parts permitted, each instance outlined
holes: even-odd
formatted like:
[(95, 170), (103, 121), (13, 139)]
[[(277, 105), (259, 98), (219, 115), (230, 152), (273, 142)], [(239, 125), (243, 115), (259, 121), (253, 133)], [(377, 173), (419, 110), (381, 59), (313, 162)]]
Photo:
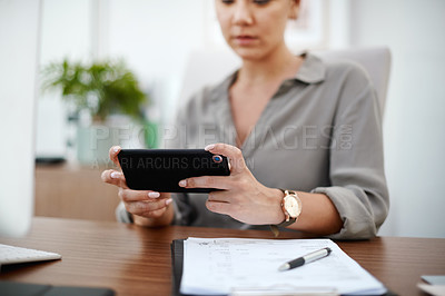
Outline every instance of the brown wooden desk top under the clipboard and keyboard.
[[(148, 229), (107, 221), (38, 217), (31, 233), (0, 243), (56, 251), (62, 260), (3, 266), (0, 279), (110, 287), (117, 295), (170, 295), (172, 239), (271, 238), (268, 231), (196, 227)], [(299, 238), (286, 233), (283, 238)], [(398, 295), (424, 295), (421, 275), (445, 274), (445, 239), (380, 237), (337, 241), (350, 257)]]

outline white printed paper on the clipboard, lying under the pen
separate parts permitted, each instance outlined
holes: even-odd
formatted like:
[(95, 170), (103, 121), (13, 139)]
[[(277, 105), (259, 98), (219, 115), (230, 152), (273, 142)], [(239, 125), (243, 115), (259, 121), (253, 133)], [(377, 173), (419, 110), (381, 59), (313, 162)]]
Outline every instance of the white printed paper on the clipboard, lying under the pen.
[[(279, 272), (284, 263), (329, 247), (332, 254)], [(334, 290), (382, 295), (386, 288), (330, 239), (195, 238), (184, 241), (181, 294), (227, 295), (234, 290)]]

